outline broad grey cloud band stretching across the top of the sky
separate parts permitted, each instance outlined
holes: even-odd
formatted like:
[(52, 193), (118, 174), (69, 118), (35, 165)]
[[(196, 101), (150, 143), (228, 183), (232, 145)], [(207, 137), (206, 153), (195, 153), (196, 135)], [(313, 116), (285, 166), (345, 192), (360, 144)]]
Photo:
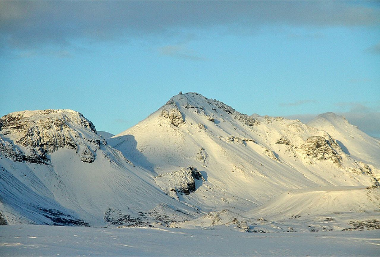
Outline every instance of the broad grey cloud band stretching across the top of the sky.
[(0, 1), (0, 47), (67, 49), (78, 39), (173, 36), (194, 28), (250, 33), (271, 24), (378, 26), (380, 10), (374, 6), (339, 1)]

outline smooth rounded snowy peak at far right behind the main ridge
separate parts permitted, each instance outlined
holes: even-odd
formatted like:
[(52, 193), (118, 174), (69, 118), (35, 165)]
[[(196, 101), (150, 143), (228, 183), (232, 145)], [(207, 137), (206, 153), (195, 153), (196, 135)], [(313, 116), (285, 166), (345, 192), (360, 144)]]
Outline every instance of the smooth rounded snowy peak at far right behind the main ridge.
[(380, 141), (348, 123), (343, 116), (320, 114), (308, 125), (328, 132), (342, 150), (354, 159), (380, 168)]

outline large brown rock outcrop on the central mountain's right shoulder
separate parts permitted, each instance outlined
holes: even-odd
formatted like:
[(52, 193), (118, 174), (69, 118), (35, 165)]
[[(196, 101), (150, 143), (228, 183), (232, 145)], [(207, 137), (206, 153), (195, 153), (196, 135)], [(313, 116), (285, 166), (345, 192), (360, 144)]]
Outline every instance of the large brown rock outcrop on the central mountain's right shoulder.
[(340, 165), (342, 157), (333, 147), (339, 148), (333, 140), (326, 140), (322, 136), (310, 136), (300, 146), (299, 151), (309, 159), (310, 163), (313, 163), (313, 160), (331, 160)]

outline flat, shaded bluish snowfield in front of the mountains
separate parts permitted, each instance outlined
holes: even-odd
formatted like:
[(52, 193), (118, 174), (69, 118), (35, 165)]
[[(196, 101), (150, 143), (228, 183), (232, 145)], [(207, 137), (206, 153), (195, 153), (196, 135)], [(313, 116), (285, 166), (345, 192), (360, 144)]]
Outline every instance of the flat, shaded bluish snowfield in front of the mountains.
[(379, 230), (242, 233), (225, 227), (0, 227), (2, 256), (378, 256), (379, 249)]

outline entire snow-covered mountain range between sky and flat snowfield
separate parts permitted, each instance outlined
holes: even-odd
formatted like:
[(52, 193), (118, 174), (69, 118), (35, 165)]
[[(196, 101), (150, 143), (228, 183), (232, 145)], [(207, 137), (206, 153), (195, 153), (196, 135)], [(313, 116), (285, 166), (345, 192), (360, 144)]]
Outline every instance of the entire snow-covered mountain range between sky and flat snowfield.
[(0, 157), (8, 224), (378, 224), (379, 141), (331, 113), (303, 124), (180, 93), (105, 140), (75, 111), (24, 111), (0, 119)]

